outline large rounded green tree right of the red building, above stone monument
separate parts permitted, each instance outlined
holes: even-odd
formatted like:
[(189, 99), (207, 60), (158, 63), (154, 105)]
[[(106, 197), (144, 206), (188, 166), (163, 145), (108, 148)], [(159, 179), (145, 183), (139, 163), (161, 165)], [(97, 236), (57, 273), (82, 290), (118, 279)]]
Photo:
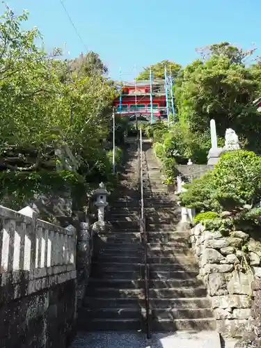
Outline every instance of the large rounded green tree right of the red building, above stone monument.
[(176, 80), (175, 101), (183, 125), (203, 133), (214, 118), (219, 136), (231, 127), (251, 149), (259, 146), (261, 132), (261, 116), (252, 104), (257, 96), (253, 71), (225, 55), (194, 61)]

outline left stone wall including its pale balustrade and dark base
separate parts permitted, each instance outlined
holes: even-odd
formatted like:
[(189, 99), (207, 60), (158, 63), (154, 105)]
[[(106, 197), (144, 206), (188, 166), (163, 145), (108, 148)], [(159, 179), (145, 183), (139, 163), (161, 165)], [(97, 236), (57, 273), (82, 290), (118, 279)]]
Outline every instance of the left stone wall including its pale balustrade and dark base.
[(0, 207), (0, 347), (65, 348), (77, 315), (76, 230)]

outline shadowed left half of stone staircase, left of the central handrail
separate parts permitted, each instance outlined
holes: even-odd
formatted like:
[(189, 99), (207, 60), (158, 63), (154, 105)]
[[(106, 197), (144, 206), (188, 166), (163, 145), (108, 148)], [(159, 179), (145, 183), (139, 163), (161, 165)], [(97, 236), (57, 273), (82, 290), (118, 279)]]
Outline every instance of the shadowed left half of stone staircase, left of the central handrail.
[(79, 310), (81, 331), (139, 331), (143, 326), (143, 252), (139, 232), (136, 145), (117, 197), (109, 207), (109, 230), (95, 240), (90, 283)]

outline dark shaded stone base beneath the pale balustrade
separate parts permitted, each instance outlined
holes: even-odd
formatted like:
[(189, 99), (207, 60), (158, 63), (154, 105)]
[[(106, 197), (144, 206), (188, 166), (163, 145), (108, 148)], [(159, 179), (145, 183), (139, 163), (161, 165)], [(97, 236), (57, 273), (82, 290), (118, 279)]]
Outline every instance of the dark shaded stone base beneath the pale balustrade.
[[(65, 277), (65, 278), (64, 278)], [(48, 280), (49, 278), (49, 280)], [(54, 279), (60, 278), (63, 283)], [(65, 348), (74, 335), (75, 279), (66, 276), (42, 278), (48, 286), (26, 294), (29, 280), (19, 283), (24, 296), (15, 296), (15, 283), (6, 283), (1, 289), (0, 347), (1, 348)], [(34, 284), (33, 284), (34, 283)], [(31, 286), (35, 289), (38, 280)]]

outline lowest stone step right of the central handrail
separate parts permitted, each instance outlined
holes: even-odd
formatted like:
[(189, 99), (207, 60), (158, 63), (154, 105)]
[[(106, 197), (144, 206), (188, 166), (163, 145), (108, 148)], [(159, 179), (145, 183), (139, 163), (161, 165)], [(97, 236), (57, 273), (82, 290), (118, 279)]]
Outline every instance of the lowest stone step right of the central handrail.
[(216, 329), (216, 319), (199, 318), (199, 319), (159, 319), (152, 320), (152, 331), (156, 332), (173, 332), (173, 331), (205, 331)]

